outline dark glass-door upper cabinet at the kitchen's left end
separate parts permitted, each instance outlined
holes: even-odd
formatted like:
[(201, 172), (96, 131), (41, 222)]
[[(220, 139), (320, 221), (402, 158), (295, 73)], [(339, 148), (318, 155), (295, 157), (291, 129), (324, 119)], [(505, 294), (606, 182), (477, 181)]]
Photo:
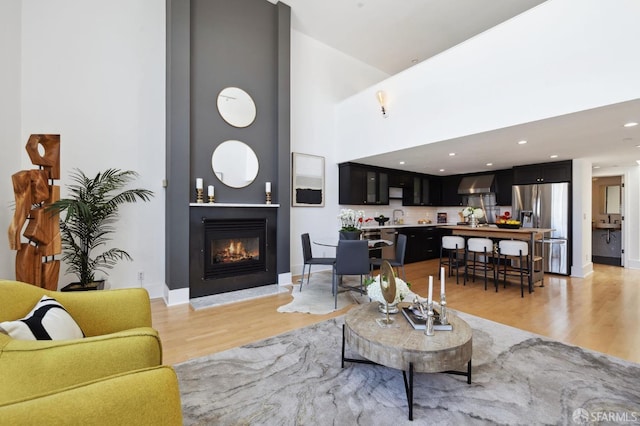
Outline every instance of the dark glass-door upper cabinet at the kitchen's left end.
[(382, 169), (356, 163), (343, 163), (338, 168), (340, 204), (389, 204), (389, 174)]

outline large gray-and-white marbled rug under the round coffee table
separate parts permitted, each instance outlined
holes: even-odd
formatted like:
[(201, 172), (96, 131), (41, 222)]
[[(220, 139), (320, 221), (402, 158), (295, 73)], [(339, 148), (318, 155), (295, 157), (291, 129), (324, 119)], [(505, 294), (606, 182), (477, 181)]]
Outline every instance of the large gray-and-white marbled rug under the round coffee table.
[[(177, 364), (184, 423), (640, 423), (640, 365), (456, 314), (473, 329), (472, 383), (449, 374), (416, 374), (413, 422), (400, 371), (340, 367), (344, 317), (338, 317)], [(349, 350), (346, 355), (356, 356)]]

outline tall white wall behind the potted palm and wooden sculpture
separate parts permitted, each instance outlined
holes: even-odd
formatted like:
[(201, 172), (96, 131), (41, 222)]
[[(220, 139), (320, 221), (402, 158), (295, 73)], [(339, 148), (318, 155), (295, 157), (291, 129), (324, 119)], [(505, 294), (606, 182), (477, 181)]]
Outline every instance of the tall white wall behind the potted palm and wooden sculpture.
[[(165, 1), (23, 0), (22, 122), (31, 133), (61, 135), (61, 172), (106, 168), (140, 173), (150, 203), (125, 205), (113, 246), (129, 252), (109, 273), (111, 288), (164, 285)], [(4, 18), (4, 16), (3, 16)], [(2, 79), (4, 83), (5, 79)], [(14, 163), (13, 169), (18, 169)], [(21, 167), (32, 168), (22, 154)], [(12, 171), (3, 167), (0, 180)], [(62, 267), (64, 270), (64, 266)], [(138, 282), (137, 272), (145, 279)], [(6, 274), (3, 274), (6, 275)], [(74, 281), (62, 276), (60, 284)]]

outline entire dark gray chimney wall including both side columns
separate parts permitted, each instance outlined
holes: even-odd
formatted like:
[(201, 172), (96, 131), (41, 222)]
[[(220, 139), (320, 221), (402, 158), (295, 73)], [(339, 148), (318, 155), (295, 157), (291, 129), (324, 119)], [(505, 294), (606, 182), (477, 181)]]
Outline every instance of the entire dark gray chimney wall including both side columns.
[[(167, 0), (167, 245), (170, 289), (189, 283), (189, 202), (195, 179), (215, 186), (218, 203), (263, 203), (272, 182), (278, 210), (277, 270), (290, 271), (290, 16), (266, 0)], [(235, 128), (216, 98), (235, 86), (254, 99), (256, 120)], [(247, 143), (260, 169), (246, 188), (222, 184), (211, 154), (225, 140)], [(205, 194), (206, 195), (206, 194)]]

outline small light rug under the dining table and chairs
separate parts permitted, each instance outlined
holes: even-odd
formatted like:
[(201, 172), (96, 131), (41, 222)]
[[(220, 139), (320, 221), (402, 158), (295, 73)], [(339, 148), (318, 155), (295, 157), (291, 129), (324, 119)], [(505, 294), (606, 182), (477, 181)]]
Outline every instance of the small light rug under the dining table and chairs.
[[(353, 287), (360, 286), (358, 277), (344, 277), (343, 284)], [(302, 291), (300, 291), (302, 285)], [(278, 312), (303, 312), (309, 314), (324, 315), (345, 306), (358, 303), (362, 297), (359, 293), (339, 288), (338, 309), (334, 309), (335, 301), (331, 294), (331, 272), (319, 271), (311, 274), (309, 283), (305, 279), (304, 284), (294, 284), (291, 291), (293, 300), (286, 305), (278, 307)], [(367, 302), (369, 298), (367, 297)]]

